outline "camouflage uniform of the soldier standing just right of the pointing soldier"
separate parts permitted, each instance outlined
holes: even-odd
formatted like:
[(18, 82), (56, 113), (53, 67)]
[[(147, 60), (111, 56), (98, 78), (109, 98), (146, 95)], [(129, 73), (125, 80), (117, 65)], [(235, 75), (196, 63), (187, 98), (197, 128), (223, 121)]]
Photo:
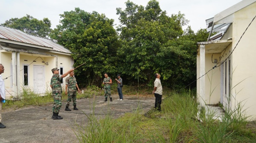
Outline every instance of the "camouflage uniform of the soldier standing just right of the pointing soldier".
[(69, 106), (69, 103), (71, 102), (71, 98), (73, 100), (73, 106), (76, 105), (76, 78), (69, 76), (66, 78), (66, 85), (68, 88), (68, 93), (67, 93), (67, 104), (66, 106)]

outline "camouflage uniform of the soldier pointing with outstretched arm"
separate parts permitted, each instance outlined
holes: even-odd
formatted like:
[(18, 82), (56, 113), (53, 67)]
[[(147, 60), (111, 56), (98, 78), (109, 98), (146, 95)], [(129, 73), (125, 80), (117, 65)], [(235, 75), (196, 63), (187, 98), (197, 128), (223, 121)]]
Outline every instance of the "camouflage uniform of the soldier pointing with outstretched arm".
[(61, 98), (62, 98), (62, 87), (61, 87), (61, 80), (62, 77), (57, 74), (53, 74), (53, 77), (51, 78), (51, 83), (50, 85), (53, 86), (53, 112), (59, 113), (60, 107), (62, 105)]

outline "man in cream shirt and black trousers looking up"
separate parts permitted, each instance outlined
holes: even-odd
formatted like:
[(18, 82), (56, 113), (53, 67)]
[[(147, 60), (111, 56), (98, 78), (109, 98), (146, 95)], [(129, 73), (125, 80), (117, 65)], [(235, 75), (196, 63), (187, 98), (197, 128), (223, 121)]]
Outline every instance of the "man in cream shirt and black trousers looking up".
[(160, 74), (155, 74), (156, 80), (154, 81), (154, 91), (153, 94), (156, 97), (155, 100), (155, 109), (161, 111), (161, 102), (162, 102), (162, 95), (163, 95), (163, 88), (160, 80)]

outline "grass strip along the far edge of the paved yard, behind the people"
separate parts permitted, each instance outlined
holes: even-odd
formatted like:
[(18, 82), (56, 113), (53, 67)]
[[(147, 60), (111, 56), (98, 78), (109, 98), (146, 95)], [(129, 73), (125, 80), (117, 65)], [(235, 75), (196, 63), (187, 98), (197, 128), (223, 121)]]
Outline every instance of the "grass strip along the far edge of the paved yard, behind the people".
[[(170, 91), (168, 88), (164, 88), (165, 92)], [(65, 91), (64, 89), (62, 89)], [(98, 88), (97, 86), (88, 86), (87, 88), (81, 89), (84, 90), (84, 93), (77, 93), (77, 99), (82, 98), (93, 98), (95, 96), (102, 96), (104, 95), (103, 88)], [(140, 87), (140, 95), (149, 95), (152, 93), (151, 88), (147, 86), (141, 86)], [(111, 86), (112, 94), (118, 94), (116, 84), (113, 84)], [(138, 90), (134, 86), (124, 86), (123, 87), (123, 95), (138, 95)], [(152, 96), (152, 94), (151, 94)], [(20, 100), (6, 100), (5, 104), (3, 104), (3, 109), (7, 108), (20, 108), (25, 107), (28, 105), (47, 105), (47, 104), (53, 104), (53, 98), (51, 95), (51, 91), (46, 91), (44, 95), (38, 95), (36, 94), (32, 89), (24, 88), (21, 93), (22, 99)], [(65, 92), (62, 93), (62, 101), (67, 100), (67, 95), (65, 95)]]

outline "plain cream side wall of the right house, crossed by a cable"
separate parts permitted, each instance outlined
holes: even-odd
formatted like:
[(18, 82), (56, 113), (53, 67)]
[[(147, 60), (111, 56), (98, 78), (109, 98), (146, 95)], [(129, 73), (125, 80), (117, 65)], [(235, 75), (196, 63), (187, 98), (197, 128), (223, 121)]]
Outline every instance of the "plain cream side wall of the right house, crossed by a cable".
[[(234, 13), (232, 25), (232, 48), (236, 45), (241, 35), (256, 14), (256, 3)], [(232, 107), (241, 102), (250, 118), (256, 120), (256, 20), (245, 32), (240, 43), (232, 54)], [(238, 84), (236, 86), (236, 84)]]

